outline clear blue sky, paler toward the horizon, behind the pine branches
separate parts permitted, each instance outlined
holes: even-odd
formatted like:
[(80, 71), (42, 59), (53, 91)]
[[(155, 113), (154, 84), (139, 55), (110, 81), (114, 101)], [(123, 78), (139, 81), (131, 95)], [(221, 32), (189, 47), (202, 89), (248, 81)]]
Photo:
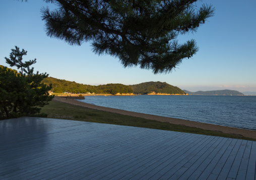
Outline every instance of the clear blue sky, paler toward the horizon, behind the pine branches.
[(215, 16), (196, 34), (179, 37), (180, 42), (195, 39), (199, 52), (183, 60), (172, 73), (154, 75), (139, 67), (123, 68), (118, 59), (108, 55), (95, 55), (89, 43), (70, 46), (47, 37), (40, 9), (48, 5), (42, 0), (1, 0), (0, 65), (10, 67), (4, 57), (18, 46), (28, 51), (25, 61), (37, 59), (36, 71), (77, 83), (130, 85), (161, 81), (193, 92), (256, 91), (256, 1), (202, 2), (215, 7)]

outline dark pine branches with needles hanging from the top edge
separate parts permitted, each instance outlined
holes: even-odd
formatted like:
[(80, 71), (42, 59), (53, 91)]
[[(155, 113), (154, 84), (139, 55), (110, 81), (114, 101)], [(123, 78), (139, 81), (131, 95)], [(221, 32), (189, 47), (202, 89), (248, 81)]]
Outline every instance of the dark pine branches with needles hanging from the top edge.
[(199, 50), (195, 40), (179, 44), (178, 35), (196, 32), (214, 14), (197, 0), (44, 0), (46, 34), (71, 45), (91, 42), (96, 54), (117, 57), (124, 67), (169, 73)]

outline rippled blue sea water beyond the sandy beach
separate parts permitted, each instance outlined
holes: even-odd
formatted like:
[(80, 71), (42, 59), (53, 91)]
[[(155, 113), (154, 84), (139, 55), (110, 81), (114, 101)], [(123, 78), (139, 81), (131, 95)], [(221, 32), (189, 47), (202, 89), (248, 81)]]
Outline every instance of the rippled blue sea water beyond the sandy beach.
[(256, 130), (256, 96), (86, 96), (98, 106)]

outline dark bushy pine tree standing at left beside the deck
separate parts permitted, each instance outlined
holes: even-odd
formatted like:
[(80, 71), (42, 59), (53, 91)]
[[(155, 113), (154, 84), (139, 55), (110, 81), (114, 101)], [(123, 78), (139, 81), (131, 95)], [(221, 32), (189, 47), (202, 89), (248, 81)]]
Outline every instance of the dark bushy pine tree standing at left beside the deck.
[(20, 73), (16, 70), (0, 66), (0, 119), (8, 119), (20, 116), (32, 116), (40, 113), (40, 107), (48, 104), (53, 96), (49, 96), (48, 91), (51, 85), (42, 83), (48, 76), (46, 73), (30, 68), (35, 60), (22, 62), (22, 58), (27, 51), (18, 47), (12, 49), (10, 58), (5, 58), (10, 66), (21, 68)]

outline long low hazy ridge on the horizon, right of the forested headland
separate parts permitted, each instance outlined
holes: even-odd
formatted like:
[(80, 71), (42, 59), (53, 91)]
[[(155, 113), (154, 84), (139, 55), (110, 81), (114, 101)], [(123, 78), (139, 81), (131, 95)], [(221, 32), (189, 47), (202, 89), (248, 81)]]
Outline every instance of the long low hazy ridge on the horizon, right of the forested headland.
[(197, 91), (197, 92), (190, 92), (187, 90), (183, 90), (188, 95), (244, 95), (243, 93), (240, 93), (239, 91), (234, 90), (216, 90), (216, 91)]

